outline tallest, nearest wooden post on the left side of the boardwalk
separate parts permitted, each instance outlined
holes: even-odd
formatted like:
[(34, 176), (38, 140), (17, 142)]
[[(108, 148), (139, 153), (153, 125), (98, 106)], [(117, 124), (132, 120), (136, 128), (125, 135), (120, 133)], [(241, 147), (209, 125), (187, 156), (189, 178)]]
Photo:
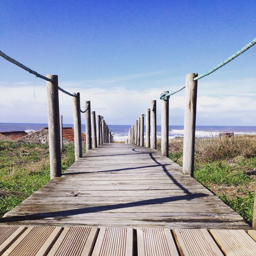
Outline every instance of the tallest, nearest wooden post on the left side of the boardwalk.
[(60, 110), (58, 104), (58, 76), (46, 75), (52, 79), (47, 81), (47, 112), (49, 132), (49, 156), (50, 156), (50, 177), (61, 177), (61, 129)]

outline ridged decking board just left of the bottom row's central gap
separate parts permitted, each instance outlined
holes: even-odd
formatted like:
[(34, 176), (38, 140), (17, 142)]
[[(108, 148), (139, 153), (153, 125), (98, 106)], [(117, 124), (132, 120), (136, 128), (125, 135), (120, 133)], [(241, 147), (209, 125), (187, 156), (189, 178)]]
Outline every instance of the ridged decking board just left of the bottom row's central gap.
[(101, 228), (92, 256), (132, 256), (131, 228)]

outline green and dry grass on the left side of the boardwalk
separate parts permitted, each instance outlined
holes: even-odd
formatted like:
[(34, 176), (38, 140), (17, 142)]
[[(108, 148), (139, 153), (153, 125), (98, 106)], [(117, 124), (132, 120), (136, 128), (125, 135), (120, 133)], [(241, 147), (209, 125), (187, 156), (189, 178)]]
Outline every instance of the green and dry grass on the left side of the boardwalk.
[[(64, 144), (61, 157), (65, 171), (75, 160), (74, 144)], [(0, 217), (49, 180), (48, 145), (0, 141)]]

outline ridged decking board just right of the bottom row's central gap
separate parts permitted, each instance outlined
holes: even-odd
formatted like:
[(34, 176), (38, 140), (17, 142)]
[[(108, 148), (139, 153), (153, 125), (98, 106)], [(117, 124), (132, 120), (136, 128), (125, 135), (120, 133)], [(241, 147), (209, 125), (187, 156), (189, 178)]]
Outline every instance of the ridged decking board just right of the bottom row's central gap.
[(138, 256), (178, 256), (170, 229), (138, 228)]

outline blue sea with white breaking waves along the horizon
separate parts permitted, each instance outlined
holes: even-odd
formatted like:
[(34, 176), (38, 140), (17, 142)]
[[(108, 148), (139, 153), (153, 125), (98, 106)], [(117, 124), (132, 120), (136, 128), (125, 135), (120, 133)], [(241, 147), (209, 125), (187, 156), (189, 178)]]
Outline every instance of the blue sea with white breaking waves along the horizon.
[[(30, 133), (47, 126), (48, 124), (0, 123), (0, 132), (22, 130)], [(63, 127), (73, 128), (73, 124), (63, 124)], [(114, 134), (114, 140), (117, 141), (128, 139), (130, 127), (129, 125), (108, 125), (110, 131)], [(84, 124), (82, 124), (82, 132), (85, 132)], [(195, 137), (218, 137), (219, 132), (234, 132), (235, 135), (256, 135), (256, 126), (196, 126)], [(183, 137), (183, 135), (184, 126), (169, 126), (169, 139)], [(161, 138), (161, 126), (157, 126), (157, 138)]]

